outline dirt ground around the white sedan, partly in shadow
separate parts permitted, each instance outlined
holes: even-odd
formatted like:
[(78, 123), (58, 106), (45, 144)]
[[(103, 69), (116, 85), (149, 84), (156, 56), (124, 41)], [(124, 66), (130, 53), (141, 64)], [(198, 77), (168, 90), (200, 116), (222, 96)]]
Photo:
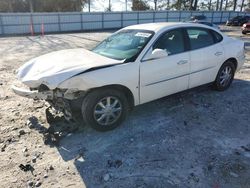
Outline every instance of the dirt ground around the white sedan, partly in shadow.
[(248, 48), (227, 91), (203, 86), (138, 106), (106, 133), (48, 124), (48, 105), (10, 85), (27, 60), (111, 32), (0, 38), (0, 187), (250, 188), (250, 35), (223, 30)]

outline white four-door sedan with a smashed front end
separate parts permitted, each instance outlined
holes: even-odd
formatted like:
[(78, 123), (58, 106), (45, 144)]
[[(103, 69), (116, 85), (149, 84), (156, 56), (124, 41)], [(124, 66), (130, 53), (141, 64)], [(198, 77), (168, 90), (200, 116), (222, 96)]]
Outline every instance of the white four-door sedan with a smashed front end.
[(128, 111), (207, 83), (223, 91), (245, 61), (244, 42), (194, 23), (150, 23), (123, 28), (91, 51), (62, 50), (30, 60), (17, 77), (66, 118), (73, 109), (99, 131), (117, 127)]

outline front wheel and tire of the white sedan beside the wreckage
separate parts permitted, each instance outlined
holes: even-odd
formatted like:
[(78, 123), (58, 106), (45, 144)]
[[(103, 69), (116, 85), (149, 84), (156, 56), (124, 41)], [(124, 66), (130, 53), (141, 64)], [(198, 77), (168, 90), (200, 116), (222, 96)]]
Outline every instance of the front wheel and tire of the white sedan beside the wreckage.
[(83, 121), (101, 132), (118, 127), (129, 110), (126, 96), (115, 89), (97, 89), (90, 92), (82, 102)]

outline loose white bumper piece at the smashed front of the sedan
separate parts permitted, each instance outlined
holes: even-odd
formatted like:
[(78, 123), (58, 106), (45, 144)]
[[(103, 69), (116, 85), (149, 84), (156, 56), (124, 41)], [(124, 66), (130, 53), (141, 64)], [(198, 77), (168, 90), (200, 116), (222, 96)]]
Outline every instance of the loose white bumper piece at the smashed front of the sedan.
[(44, 92), (39, 92), (37, 90), (30, 91), (28, 89), (16, 87), (15, 85), (12, 85), (11, 89), (15, 94), (31, 99), (51, 100), (54, 98), (53, 91), (44, 91)]

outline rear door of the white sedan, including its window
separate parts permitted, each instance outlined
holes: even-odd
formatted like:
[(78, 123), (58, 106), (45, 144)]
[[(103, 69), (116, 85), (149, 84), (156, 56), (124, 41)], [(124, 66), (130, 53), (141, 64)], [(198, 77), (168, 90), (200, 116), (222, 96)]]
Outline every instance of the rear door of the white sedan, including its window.
[(191, 50), (189, 88), (213, 82), (224, 60), (222, 39), (217, 39), (213, 32), (201, 27), (186, 28)]

